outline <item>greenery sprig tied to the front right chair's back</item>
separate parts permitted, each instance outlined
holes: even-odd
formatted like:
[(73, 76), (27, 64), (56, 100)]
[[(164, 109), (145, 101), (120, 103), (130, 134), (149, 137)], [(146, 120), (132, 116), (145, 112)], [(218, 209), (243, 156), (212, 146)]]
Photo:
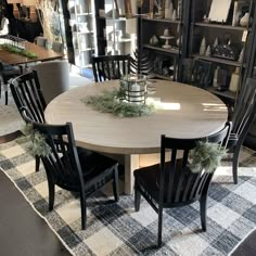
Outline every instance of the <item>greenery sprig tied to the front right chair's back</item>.
[(195, 149), (191, 151), (190, 164), (192, 172), (201, 172), (203, 169), (213, 172), (219, 165), (227, 150), (217, 143), (200, 141)]

